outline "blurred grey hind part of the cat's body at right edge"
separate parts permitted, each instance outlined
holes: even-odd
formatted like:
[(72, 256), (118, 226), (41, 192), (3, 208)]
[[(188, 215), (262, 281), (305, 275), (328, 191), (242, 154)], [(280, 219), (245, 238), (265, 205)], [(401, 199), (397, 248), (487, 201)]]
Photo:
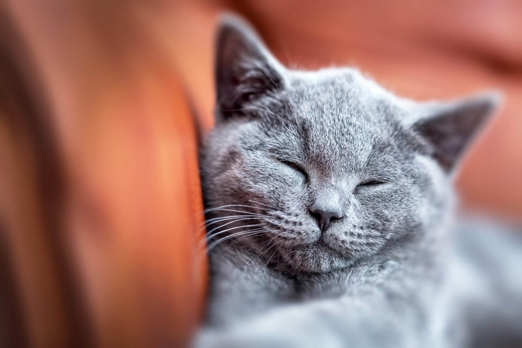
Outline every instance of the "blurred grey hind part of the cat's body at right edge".
[(473, 216), (452, 232), (444, 319), (466, 347), (522, 346), (522, 229)]

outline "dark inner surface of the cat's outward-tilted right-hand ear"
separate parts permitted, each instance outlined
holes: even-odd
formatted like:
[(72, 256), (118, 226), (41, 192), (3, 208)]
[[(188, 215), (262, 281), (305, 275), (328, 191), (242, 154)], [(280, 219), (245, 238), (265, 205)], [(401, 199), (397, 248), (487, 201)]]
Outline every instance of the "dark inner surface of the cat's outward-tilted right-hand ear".
[(433, 157), (446, 172), (450, 172), (487, 121), (495, 105), (496, 97), (464, 101), (445, 107), (434, 116), (421, 119), (414, 128), (432, 146)]

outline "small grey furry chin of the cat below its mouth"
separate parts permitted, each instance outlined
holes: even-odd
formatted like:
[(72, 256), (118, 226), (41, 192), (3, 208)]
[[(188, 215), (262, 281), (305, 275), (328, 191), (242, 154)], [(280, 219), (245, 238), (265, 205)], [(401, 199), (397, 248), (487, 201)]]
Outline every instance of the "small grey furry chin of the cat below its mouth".
[(291, 273), (328, 273), (353, 264), (349, 257), (324, 244), (295, 247), (284, 257)]

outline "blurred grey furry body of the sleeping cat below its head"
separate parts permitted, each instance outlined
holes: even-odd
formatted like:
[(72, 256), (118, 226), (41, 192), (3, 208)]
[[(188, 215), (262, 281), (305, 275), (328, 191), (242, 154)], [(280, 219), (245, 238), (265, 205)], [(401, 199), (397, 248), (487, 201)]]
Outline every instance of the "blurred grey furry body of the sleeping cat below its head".
[[(444, 253), (447, 261), (443, 268), (444, 281), (436, 279), (434, 283), (429, 283), (422, 274), (410, 278), (412, 274), (405, 274), (400, 268), (383, 273), (382, 269), (375, 268), (375, 263), (358, 265), (350, 272), (311, 278), (285, 277), (265, 267), (263, 261), (247, 263), (249, 258), (240, 251), (231, 253), (218, 248), (212, 253), (212, 301), (207, 324), (223, 334), (210, 331), (201, 345), (518, 347), (522, 342), (522, 279), (518, 269), (522, 265), (522, 235), (508, 226), (487, 223), (472, 219), (454, 226), (455, 234), (447, 241)], [(382, 261), (386, 263), (387, 260)], [(412, 264), (405, 262), (402, 266), (408, 270)], [(420, 270), (417, 266), (413, 263), (413, 267)], [(377, 320), (388, 316), (389, 321), (379, 328), (380, 335), (374, 336), (372, 329), (365, 325), (358, 306), (378, 306), (377, 301), (357, 294), (355, 296), (361, 300), (358, 306), (348, 303), (342, 307), (340, 302), (339, 310), (335, 310), (339, 299), (343, 295), (353, 296), (350, 292), (360, 289), (358, 285), (362, 281), (367, 282), (370, 290), (374, 281), (395, 286), (411, 283), (409, 289), (395, 289), (401, 297), (385, 301), (414, 310), (401, 317), (400, 313), (377, 307), (371, 316)], [(383, 286), (377, 290), (393, 293)], [(321, 300), (326, 300), (323, 309), (317, 306)], [(294, 308), (292, 304), (295, 304)], [(330, 316), (325, 315), (325, 311)], [(321, 325), (334, 329), (305, 327), (304, 332), (292, 331), (289, 328), (302, 325), (299, 321), (288, 321), (288, 316), (293, 315), (318, 320)], [(256, 317), (268, 318), (266, 320), (272, 325), (259, 329), (263, 321), (258, 323)], [(397, 317), (401, 320), (397, 321)], [(354, 325), (350, 318), (364, 326)], [(363, 337), (371, 340), (351, 337), (351, 331), (339, 328), (339, 322), (363, 332)], [(278, 331), (288, 335), (278, 335)], [(397, 333), (399, 338), (395, 338)], [(270, 340), (271, 336), (279, 336), (279, 340)], [(331, 337), (336, 340), (334, 343), (331, 343)]]

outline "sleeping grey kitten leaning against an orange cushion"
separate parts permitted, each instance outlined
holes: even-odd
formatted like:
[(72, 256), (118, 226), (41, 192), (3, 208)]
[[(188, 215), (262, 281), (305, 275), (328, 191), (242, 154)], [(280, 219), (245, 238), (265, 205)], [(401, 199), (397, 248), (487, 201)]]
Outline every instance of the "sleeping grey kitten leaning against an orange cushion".
[(210, 303), (195, 346), (490, 339), (468, 333), (487, 322), (476, 304), (494, 294), (462, 278), (473, 263), (448, 231), (452, 177), (497, 94), (421, 103), (355, 69), (289, 70), (230, 16), (216, 79), (216, 127), (200, 158)]

